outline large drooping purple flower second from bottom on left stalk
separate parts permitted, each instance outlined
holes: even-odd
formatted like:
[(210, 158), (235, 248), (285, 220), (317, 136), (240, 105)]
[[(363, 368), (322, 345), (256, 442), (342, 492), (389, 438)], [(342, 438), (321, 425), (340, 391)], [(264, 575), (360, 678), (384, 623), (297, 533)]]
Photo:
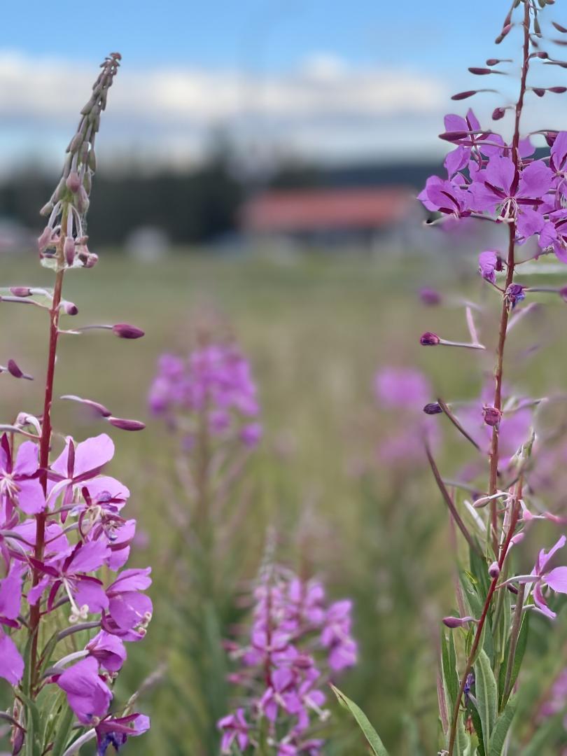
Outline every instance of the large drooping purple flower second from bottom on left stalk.
[(97, 723), (107, 714), (112, 693), (98, 674), (98, 661), (92, 656), (81, 659), (54, 677), (67, 693), (67, 701), (83, 724)]

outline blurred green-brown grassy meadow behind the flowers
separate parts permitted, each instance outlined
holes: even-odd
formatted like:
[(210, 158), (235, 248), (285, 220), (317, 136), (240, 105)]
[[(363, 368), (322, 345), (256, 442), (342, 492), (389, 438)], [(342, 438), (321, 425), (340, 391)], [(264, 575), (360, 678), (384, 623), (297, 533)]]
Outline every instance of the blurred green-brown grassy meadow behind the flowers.
[[(88, 274), (73, 271), (67, 277), (66, 297), (81, 305), (73, 324), (128, 320), (145, 331), (144, 339), (135, 342), (96, 331), (64, 336), (55, 389), (57, 396), (94, 398), (120, 417), (147, 422), (144, 432), (122, 435), (109, 467), (110, 474), (120, 471), (132, 491), (130, 508), (139, 529), (131, 563), (153, 566), (153, 621), (144, 643), (130, 646), (132, 663), (116, 687), (116, 696), (125, 700), (153, 676), (141, 695), (152, 728), (129, 744), (130, 753), (215, 753), (213, 714), (220, 705), (222, 715), (227, 702), (222, 679), (227, 661), (215, 635), (218, 627), (209, 625), (200, 636), (209, 644), (206, 649), (191, 640), (194, 617), (187, 612), (206, 613), (206, 602), (197, 609), (186, 606), (183, 572), (180, 577), (172, 569), (172, 559), (191, 565), (191, 539), (184, 537), (181, 521), (172, 518), (172, 502), (181, 510), (184, 506), (175, 441), (147, 411), (159, 356), (186, 354), (203, 327), (237, 339), (251, 361), (262, 406), (264, 438), (246, 463), (234, 538), (225, 551), (239, 595), (249, 591), (268, 534), (274, 533), (278, 562), (321, 576), (333, 599), (354, 602), (359, 662), (340, 678), (340, 687), (380, 728), (393, 754), (435, 750), (440, 618), (454, 604), (451, 529), (423, 458), (380, 461), (378, 448), (403, 431), (407, 415), (381, 407), (373, 390), (376, 371), (394, 366), (426, 370), (431, 401), (479, 392), (479, 355), (465, 350), (454, 361), (445, 354), (451, 350), (419, 345), (423, 330), (465, 337), (451, 291), (457, 297), (457, 289), (478, 287), (476, 271), (472, 265), (464, 270), (445, 266), (443, 280), (437, 274), (432, 281), (429, 269), (429, 259), (409, 254), (274, 260), (184, 250), (151, 265), (103, 253)], [(49, 279), (33, 255), (2, 262), (3, 285), (41, 286)], [(539, 276), (538, 283), (542, 280), (557, 283), (551, 276)], [(423, 305), (418, 293), (424, 284), (442, 288), (448, 306)], [(554, 302), (541, 316), (547, 319), (547, 334), (553, 331), (559, 340), (565, 339), (565, 306)], [(2, 376), (2, 417), (11, 417), (12, 407), (39, 411), (45, 342), (38, 321), (44, 315), (36, 308), (0, 308), (0, 353), (37, 376), (34, 383)], [(67, 323), (71, 326), (70, 319)], [(537, 325), (541, 328), (542, 321)], [(522, 338), (529, 337), (528, 329)], [(515, 378), (528, 383), (526, 388), (529, 381), (561, 386), (565, 360), (557, 355), (562, 353), (557, 346), (541, 345), (529, 380), (521, 364)], [(416, 408), (407, 410), (411, 414)], [(451, 442), (439, 451), (438, 462), (450, 472), (466, 460), (468, 450), (440, 420)], [(54, 407), (54, 432), (60, 428), (71, 429), (78, 439), (106, 430), (63, 401)], [(553, 635), (557, 660), (559, 627)], [(204, 679), (212, 687), (203, 689), (200, 657), (211, 646), (207, 664), (212, 667)], [(543, 688), (555, 672), (555, 667), (542, 671), (538, 684)], [(364, 754), (345, 713), (336, 702), (328, 705), (333, 717), (326, 729), (333, 737), (326, 752)]]

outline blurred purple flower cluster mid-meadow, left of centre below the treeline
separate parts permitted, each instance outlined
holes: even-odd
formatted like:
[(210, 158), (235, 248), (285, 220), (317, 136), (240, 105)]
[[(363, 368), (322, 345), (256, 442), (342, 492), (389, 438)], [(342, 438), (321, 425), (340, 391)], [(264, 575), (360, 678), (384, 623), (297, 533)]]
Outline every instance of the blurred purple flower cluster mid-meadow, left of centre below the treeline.
[(247, 447), (262, 436), (259, 404), (250, 365), (235, 345), (208, 344), (188, 358), (162, 355), (149, 396), (154, 414), (181, 430), (191, 448), (206, 417), (209, 433), (240, 438)]

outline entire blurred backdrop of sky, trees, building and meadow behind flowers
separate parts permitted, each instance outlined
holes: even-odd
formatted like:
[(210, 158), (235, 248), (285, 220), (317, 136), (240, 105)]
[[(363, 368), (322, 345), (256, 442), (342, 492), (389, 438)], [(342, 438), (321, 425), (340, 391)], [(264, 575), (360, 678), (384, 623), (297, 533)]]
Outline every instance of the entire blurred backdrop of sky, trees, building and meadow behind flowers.
[[(493, 0), (475, 8), (482, 24), (473, 18), (473, 26), (451, 0), (31, 0), (2, 10), (3, 286), (50, 284), (36, 255), (39, 208), (57, 182), (98, 63), (109, 51), (122, 53), (88, 214), (89, 247), (100, 262), (71, 271), (65, 296), (79, 306), (81, 324), (129, 321), (146, 336), (63, 339), (56, 391), (147, 421), (141, 434), (113, 432), (113, 474), (131, 488), (139, 521), (132, 563), (153, 565), (156, 602), (147, 640), (130, 646), (117, 695), (127, 699), (165, 669), (141, 699), (153, 730), (132, 753), (214, 752), (195, 735), (198, 691), (174, 612), (181, 589), (167, 568), (175, 524), (166, 503), (179, 497), (175, 442), (149, 416), (146, 398), (160, 354), (187, 354), (203, 322), (219, 320), (251, 361), (262, 404), (264, 438), (249, 460), (249, 509), (237, 525), (246, 533), (243, 578), (254, 577), (274, 526), (280, 561), (297, 567), (307, 559), (330, 596), (355, 602), (360, 663), (342, 687), (393, 754), (435, 749), (438, 619), (454, 603), (451, 534), (411, 438), (420, 407), (389, 404), (376, 395), (374, 376), (423, 370), (433, 401), (479, 395), (491, 369), (472, 350), (455, 356), (419, 347), (423, 330), (467, 338), (463, 298), (484, 296), (491, 306), (476, 280), (476, 253), (500, 237), (474, 226), (458, 236), (424, 228), (416, 200), (426, 177), (442, 170), (443, 114), (466, 111), (449, 97), (472, 88), (466, 67), (494, 54), (507, 12)], [(517, 45), (511, 33), (500, 54)], [(565, 71), (550, 79), (565, 83)], [(502, 86), (511, 99), (513, 81)], [(479, 101), (479, 116), (501, 101)], [(538, 101), (538, 109), (540, 126), (567, 122), (561, 99)], [(546, 270), (544, 283), (562, 285), (560, 270)], [(424, 296), (424, 287), (441, 292), (446, 307), (432, 307), (435, 296)], [(550, 344), (561, 338), (564, 307), (558, 298), (540, 316), (549, 343), (529, 379), (522, 349), (531, 342), (519, 339), (514, 370), (522, 389), (561, 385), (564, 361)], [(2, 308), (0, 318), (2, 359), (37, 376), (33, 384), (3, 377), (2, 417), (11, 420), (14, 407), (40, 406), (45, 323), (35, 308)], [(107, 430), (82, 424), (62, 404), (55, 425), (77, 438)], [(468, 450), (443, 428), (451, 448), (439, 451), (440, 463), (450, 472)], [(360, 752), (336, 717), (339, 735), (328, 752)], [(429, 750), (420, 751), (423, 743)]]

